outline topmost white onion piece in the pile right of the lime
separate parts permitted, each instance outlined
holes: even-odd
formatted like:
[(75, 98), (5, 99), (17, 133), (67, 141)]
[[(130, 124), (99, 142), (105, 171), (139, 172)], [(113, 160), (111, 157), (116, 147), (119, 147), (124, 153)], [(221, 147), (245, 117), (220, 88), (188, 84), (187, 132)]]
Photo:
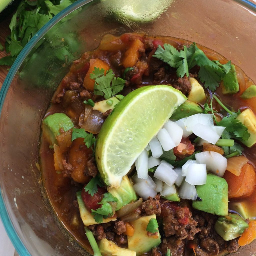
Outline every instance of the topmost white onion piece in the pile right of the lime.
[[(191, 115), (184, 122), (186, 130), (193, 132), (195, 125), (203, 124), (205, 126), (213, 126), (213, 115), (212, 114), (195, 114)], [(199, 136), (200, 137), (200, 136)]]

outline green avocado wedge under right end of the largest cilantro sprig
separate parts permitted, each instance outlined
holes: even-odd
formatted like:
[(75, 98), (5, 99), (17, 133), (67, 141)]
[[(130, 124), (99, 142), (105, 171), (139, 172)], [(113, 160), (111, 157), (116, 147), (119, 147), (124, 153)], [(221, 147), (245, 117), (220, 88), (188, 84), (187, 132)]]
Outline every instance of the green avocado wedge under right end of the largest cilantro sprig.
[(225, 77), (223, 77), (222, 81), (223, 81), (223, 87), (222, 87), (223, 94), (234, 94), (239, 91), (239, 83), (237, 81), (237, 71), (234, 65), (231, 65), (230, 71), (226, 74)]

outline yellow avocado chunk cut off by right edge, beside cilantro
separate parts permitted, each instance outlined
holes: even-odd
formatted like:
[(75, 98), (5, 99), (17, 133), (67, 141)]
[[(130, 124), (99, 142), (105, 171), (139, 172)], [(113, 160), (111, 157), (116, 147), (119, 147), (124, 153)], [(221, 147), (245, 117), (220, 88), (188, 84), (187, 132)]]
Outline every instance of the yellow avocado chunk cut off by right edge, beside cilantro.
[(247, 127), (251, 135), (247, 141), (242, 140), (242, 143), (247, 147), (252, 147), (256, 143), (256, 116), (251, 109), (246, 109), (236, 119)]

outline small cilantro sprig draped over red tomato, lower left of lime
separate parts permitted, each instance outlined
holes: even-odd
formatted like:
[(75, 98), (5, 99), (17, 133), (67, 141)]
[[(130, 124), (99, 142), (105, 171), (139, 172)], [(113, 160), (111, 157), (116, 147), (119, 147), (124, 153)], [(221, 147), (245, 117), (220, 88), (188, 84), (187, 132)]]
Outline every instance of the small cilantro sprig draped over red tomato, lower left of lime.
[(111, 193), (105, 193), (103, 199), (98, 203), (102, 206), (97, 210), (91, 210), (96, 222), (102, 223), (103, 218), (107, 219), (113, 215), (113, 207), (110, 202), (118, 202), (118, 199)]

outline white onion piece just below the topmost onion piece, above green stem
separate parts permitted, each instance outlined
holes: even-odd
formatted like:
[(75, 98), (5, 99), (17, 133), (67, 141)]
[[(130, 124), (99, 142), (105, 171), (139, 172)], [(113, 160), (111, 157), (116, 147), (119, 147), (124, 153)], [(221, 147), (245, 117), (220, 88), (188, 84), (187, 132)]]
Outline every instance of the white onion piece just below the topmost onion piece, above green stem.
[(198, 137), (203, 140), (209, 141), (211, 144), (216, 144), (220, 139), (220, 135), (216, 132), (215, 126), (207, 126), (204, 124), (197, 124), (192, 129), (193, 133), (195, 133)]

